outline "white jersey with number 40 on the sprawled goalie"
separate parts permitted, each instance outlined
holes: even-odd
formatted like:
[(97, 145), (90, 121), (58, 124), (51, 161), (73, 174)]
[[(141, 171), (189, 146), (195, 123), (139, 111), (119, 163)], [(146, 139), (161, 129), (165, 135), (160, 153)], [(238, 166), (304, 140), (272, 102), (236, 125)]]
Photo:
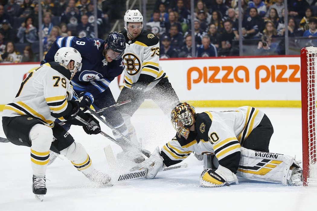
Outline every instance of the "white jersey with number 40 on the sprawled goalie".
[(219, 163), (222, 160), (230, 163), (236, 159), (238, 162), (243, 141), (260, 124), (263, 116), (263, 111), (250, 106), (243, 106), (234, 111), (199, 113), (195, 123), (197, 133), (190, 132), (187, 140), (177, 133), (162, 147), (162, 151), (171, 164), (181, 162), (191, 152), (214, 153)]

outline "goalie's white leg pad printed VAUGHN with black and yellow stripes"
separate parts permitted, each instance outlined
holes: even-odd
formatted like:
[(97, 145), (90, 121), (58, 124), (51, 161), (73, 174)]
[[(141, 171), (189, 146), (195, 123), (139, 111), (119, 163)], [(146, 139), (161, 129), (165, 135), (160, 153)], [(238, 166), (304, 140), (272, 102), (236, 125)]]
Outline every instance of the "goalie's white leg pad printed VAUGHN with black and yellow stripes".
[(236, 176), (289, 185), (294, 184), (291, 176), (294, 175), (295, 170), (300, 171), (299, 168), (292, 156), (258, 152), (241, 147), (241, 158)]

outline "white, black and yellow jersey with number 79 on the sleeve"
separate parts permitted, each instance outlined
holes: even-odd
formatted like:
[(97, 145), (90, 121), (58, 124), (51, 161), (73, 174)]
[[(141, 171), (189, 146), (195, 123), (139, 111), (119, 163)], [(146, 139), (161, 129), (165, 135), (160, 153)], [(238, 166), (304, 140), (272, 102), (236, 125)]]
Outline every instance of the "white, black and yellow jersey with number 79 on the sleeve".
[(24, 79), (13, 102), (4, 106), (3, 116), (32, 116), (53, 127), (56, 118), (63, 120), (62, 116), (68, 114), (71, 105), (68, 106), (67, 100), (72, 96), (68, 68), (58, 62), (49, 62)]

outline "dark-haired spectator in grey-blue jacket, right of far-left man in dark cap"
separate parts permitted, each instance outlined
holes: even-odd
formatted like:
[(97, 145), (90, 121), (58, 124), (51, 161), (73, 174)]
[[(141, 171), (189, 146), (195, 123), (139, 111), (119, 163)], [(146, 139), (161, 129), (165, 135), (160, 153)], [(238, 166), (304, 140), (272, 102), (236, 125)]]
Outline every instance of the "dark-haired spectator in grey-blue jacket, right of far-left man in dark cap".
[(37, 30), (33, 26), (32, 17), (25, 18), (25, 21), (18, 28), (16, 36), (19, 38), (20, 43), (34, 43), (38, 40)]

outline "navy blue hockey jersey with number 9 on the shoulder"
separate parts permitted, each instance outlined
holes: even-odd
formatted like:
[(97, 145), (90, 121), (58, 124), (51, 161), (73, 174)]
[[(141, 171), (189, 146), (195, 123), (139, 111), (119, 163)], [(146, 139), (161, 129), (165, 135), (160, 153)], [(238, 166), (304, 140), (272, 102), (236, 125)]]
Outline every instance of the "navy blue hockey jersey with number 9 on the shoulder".
[(61, 37), (53, 43), (44, 61), (54, 61), (55, 53), (61, 47), (75, 48), (81, 54), (82, 67), (72, 79), (73, 88), (96, 96), (106, 90), (110, 82), (124, 70), (122, 58), (106, 61), (102, 53), (104, 45), (105, 41), (97, 38)]

